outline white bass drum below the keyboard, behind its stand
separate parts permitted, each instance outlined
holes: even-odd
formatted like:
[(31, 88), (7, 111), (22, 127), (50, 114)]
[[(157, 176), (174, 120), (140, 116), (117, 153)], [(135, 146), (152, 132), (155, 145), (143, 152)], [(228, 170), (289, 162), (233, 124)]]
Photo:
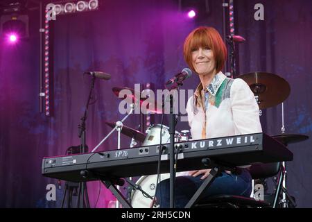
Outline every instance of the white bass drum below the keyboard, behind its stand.
[[(187, 176), (187, 172), (175, 173), (175, 176)], [(170, 178), (169, 173), (163, 173), (160, 176), (160, 181)], [(154, 197), (157, 185), (157, 174), (149, 176), (141, 176), (137, 180), (137, 185), (141, 187), (148, 195)], [(133, 208), (150, 208), (152, 199), (148, 198), (141, 191), (135, 189), (131, 194), (131, 205)], [(153, 206), (153, 208), (158, 208), (159, 206)]]

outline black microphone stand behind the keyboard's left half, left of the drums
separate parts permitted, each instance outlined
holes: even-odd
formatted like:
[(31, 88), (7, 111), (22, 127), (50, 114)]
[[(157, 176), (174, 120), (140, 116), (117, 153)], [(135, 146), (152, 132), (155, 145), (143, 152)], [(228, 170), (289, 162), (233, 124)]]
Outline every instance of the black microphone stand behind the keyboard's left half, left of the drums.
[[(85, 106), (85, 113), (83, 114), (83, 117), (80, 119), (80, 124), (78, 125), (78, 137), (80, 138), (80, 153), (85, 153), (85, 147), (86, 147), (86, 126), (85, 121), (87, 120), (87, 111), (89, 108), (89, 103), (91, 100), (92, 91), (94, 89), (94, 82), (95, 82), (96, 76), (92, 76), (92, 83), (89, 91), (89, 96), (87, 100), (87, 105)], [(79, 188), (78, 188), (78, 199), (77, 199), (77, 206), (80, 208), (84, 208), (85, 206), (89, 208), (89, 198), (87, 193), (87, 184), (86, 182), (80, 182)], [(81, 198), (80, 198), (81, 194)], [(86, 200), (86, 203), (85, 203)]]

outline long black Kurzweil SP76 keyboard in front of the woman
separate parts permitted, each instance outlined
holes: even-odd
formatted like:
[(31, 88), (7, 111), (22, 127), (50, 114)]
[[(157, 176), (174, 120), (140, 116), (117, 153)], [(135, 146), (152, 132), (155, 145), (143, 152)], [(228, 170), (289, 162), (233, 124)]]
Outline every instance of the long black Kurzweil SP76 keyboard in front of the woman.
[[(293, 160), (293, 153), (286, 146), (265, 133), (178, 142), (175, 147), (179, 148), (177, 171), (203, 169), (202, 158), (205, 157), (232, 167)], [(162, 173), (169, 171), (169, 149), (170, 144), (163, 144)], [(157, 173), (158, 160), (159, 145), (45, 157), (42, 174), (73, 182), (98, 180), (96, 176), (83, 178), (80, 175), (83, 170), (117, 178), (143, 176)]]

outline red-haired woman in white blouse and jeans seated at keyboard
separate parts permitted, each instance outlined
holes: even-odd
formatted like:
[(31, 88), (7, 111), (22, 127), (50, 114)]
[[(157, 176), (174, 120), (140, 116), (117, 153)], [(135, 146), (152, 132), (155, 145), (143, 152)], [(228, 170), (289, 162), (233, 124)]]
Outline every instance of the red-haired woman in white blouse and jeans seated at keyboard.
[[(222, 72), (227, 50), (216, 29), (199, 27), (184, 42), (184, 59), (198, 74), (200, 84), (187, 102), (187, 114), (193, 139), (208, 139), (249, 133), (261, 133), (259, 106), (250, 87), (241, 78), (227, 78)], [(175, 207), (187, 205), (209, 175), (210, 169), (190, 171), (175, 180)], [(203, 192), (201, 198), (218, 194), (249, 197), (252, 191), (248, 166), (240, 173), (223, 172)], [(160, 207), (169, 207), (170, 180), (157, 186)]]

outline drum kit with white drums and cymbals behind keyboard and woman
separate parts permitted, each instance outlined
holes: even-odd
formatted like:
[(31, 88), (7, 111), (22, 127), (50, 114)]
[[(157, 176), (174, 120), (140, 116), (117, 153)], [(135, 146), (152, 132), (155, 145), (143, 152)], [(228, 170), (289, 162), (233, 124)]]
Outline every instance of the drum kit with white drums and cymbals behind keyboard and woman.
[[(277, 141), (281, 142), (285, 146), (288, 144), (293, 144), (297, 142), (302, 142), (306, 139), (309, 139), (307, 135), (300, 134), (286, 134), (284, 127), (284, 101), (288, 98), (291, 87), (288, 82), (281, 78), (276, 74), (271, 74), (268, 72), (253, 72), (248, 74), (242, 74), (238, 76), (245, 80), (246, 83), (250, 86), (250, 89), (254, 93), (254, 97), (259, 104), (259, 110), (263, 110), (266, 108), (271, 108), (281, 103), (282, 105), (282, 127), (281, 134), (272, 135), (271, 137), (277, 139)], [(136, 98), (135, 95), (140, 95), (137, 92), (135, 94), (134, 89), (130, 89), (127, 87), (113, 87), (112, 91), (116, 96), (119, 96), (119, 92), (122, 89), (128, 89), (132, 92), (132, 102), (139, 101), (139, 104), (143, 102), (140, 98)], [(119, 97), (120, 98), (120, 97)], [(121, 98), (124, 99), (124, 98)], [(150, 113), (161, 113), (161, 110), (157, 110), (155, 108), (152, 110), (148, 110)], [(261, 112), (259, 113), (261, 115)], [(125, 119), (125, 118), (124, 118)], [(123, 119), (123, 120), (124, 120)], [(120, 121), (119, 121), (120, 122)], [(146, 133), (142, 133), (139, 130), (135, 130), (134, 128), (130, 128), (128, 126), (124, 126), (122, 123), (118, 124), (118, 122), (105, 122), (107, 126), (111, 128), (119, 129), (119, 133), (126, 135), (132, 138), (132, 143), (130, 147), (133, 147), (137, 144), (137, 142), (141, 143), (141, 146), (150, 146), (154, 144), (159, 144), (162, 139), (162, 143), (168, 143), (170, 139), (169, 128), (168, 126), (161, 126), (160, 124), (151, 125), (146, 130)], [(120, 125), (120, 126), (117, 126)], [(162, 134), (161, 134), (162, 129)], [(160, 138), (162, 137), (162, 138)], [(189, 130), (182, 130), (181, 133), (175, 133), (175, 142), (184, 142), (191, 139), (191, 135), (189, 134)], [(283, 162), (285, 167), (285, 163)], [(177, 173), (177, 176), (184, 176), (185, 173)], [(163, 173), (160, 181), (169, 178), (169, 173)], [(130, 178), (132, 180), (132, 178)], [(153, 196), (155, 196), (155, 189), (157, 185), (157, 175), (150, 176), (141, 176), (137, 182), (135, 182), (135, 187), (139, 187), (139, 189), (131, 189), (129, 199), (132, 207), (135, 208), (148, 208), (153, 203)], [(284, 190), (286, 190), (286, 176), (283, 181)], [(142, 191), (143, 190), (143, 191)], [(283, 194), (283, 199), (281, 202), (286, 203), (286, 194)], [(117, 207), (117, 205), (116, 205)], [(157, 207), (154, 205), (154, 207)]]

